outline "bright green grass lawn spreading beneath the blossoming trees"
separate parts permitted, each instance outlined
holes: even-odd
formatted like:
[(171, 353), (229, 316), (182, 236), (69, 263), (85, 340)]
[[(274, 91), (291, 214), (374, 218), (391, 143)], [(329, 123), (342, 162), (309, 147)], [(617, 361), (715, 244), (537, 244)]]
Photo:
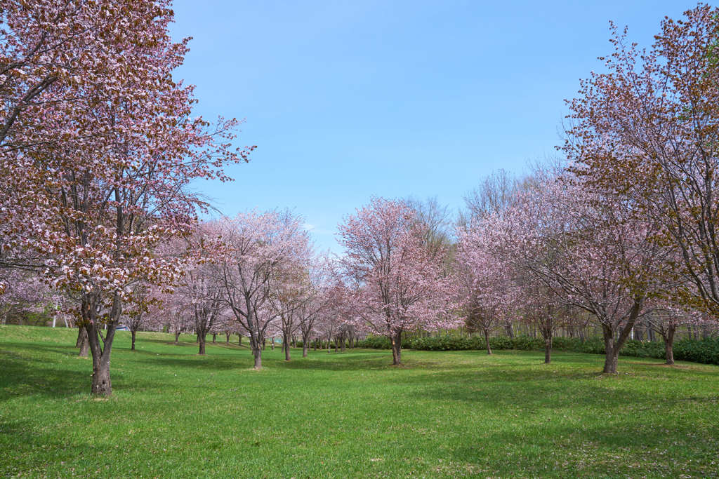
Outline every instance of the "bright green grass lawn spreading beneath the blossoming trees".
[[(0, 327), (0, 475), (719, 475), (719, 367), (500, 351), (249, 351), (119, 332), (93, 399), (76, 330)], [(224, 336), (222, 336), (224, 340)]]

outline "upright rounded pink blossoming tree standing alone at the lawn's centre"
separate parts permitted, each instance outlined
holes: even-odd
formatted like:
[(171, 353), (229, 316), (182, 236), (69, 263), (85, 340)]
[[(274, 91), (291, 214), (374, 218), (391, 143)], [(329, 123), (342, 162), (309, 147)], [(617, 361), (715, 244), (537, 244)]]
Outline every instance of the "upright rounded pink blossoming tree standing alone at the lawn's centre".
[(353, 312), (347, 322), (389, 338), (393, 364), (401, 363), (403, 332), (454, 325), (446, 314), (452, 280), (442, 255), (423, 241), (423, 228), (405, 202), (382, 198), (339, 225), (338, 274)]

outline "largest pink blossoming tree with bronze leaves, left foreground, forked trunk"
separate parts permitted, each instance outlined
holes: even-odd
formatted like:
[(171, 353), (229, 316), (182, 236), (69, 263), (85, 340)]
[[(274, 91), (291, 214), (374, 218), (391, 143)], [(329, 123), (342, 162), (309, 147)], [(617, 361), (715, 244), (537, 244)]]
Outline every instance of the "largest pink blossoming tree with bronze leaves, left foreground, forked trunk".
[[(75, 299), (88, 333), (92, 392), (111, 394), (115, 327), (139, 281), (173, 282), (155, 253), (191, 230), (201, 197), (188, 185), (227, 180), (236, 121), (192, 116), (192, 88), (173, 79), (187, 51), (165, 0), (11, 1), (4, 8), (2, 257), (29, 256)], [(7, 185), (7, 182), (0, 182)], [(32, 218), (32, 220), (28, 220)], [(103, 327), (106, 326), (106, 330)]]

